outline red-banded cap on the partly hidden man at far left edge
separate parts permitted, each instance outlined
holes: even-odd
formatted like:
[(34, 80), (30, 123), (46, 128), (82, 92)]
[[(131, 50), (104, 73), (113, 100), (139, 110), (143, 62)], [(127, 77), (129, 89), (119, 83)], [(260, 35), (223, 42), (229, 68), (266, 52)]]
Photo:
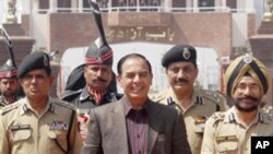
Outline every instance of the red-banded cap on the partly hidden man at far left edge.
[(16, 78), (16, 75), (17, 75), (17, 69), (14, 66), (12, 66), (10, 59), (2, 67), (0, 67), (0, 79)]

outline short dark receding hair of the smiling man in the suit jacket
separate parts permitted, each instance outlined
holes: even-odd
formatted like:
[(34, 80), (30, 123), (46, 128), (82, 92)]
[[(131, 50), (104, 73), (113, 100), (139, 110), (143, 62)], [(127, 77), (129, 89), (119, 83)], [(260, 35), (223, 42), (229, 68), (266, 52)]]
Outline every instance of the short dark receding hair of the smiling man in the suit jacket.
[(131, 58), (136, 58), (136, 57), (143, 59), (143, 60), (146, 62), (147, 68), (149, 68), (149, 71), (150, 71), (150, 73), (152, 73), (151, 63), (150, 63), (150, 61), (149, 61), (143, 55), (140, 55), (140, 54), (129, 54), (129, 55), (123, 56), (123, 57), (118, 61), (118, 67), (117, 67), (118, 74), (121, 74), (121, 73), (122, 73), (121, 67), (123, 66), (123, 63), (124, 63), (126, 60), (131, 59)]

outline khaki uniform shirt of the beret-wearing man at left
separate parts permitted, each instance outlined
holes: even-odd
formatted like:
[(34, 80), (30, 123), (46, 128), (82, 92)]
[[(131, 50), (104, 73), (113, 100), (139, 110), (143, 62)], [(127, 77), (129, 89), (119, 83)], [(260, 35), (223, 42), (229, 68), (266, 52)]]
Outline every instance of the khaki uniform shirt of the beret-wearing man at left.
[(38, 116), (22, 98), (0, 110), (0, 154), (79, 154), (82, 143), (76, 127), (70, 104), (49, 98)]

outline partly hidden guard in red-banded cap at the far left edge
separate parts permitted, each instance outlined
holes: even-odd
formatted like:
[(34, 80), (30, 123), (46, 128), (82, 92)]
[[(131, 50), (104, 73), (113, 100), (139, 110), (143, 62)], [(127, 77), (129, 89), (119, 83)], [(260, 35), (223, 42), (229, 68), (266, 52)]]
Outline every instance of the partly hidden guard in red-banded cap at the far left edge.
[(20, 84), (16, 75), (17, 69), (12, 66), (12, 62), (9, 59), (0, 68), (0, 108), (19, 99), (17, 91)]

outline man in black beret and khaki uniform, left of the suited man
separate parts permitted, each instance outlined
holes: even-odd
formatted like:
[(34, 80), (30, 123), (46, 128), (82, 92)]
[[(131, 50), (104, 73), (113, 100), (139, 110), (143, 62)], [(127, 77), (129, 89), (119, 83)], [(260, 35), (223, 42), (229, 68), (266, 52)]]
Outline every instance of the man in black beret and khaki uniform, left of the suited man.
[(0, 111), (0, 153), (79, 154), (82, 142), (75, 108), (48, 96), (54, 83), (48, 55), (27, 55), (17, 78), (25, 97)]

